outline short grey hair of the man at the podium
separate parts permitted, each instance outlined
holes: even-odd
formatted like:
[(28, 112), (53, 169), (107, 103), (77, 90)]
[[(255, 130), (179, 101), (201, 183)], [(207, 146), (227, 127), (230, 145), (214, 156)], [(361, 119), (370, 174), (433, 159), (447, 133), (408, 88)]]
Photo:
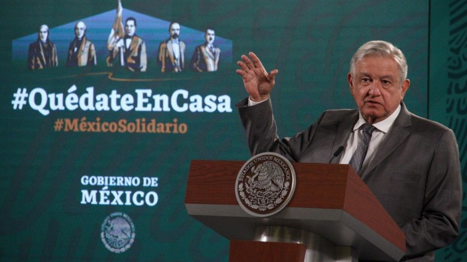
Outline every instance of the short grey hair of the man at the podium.
[(404, 53), (386, 41), (370, 41), (363, 44), (350, 60), (350, 74), (355, 77), (355, 66), (365, 56), (384, 56), (395, 60), (399, 69), (399, 84), (407, 78), (407, 60)]

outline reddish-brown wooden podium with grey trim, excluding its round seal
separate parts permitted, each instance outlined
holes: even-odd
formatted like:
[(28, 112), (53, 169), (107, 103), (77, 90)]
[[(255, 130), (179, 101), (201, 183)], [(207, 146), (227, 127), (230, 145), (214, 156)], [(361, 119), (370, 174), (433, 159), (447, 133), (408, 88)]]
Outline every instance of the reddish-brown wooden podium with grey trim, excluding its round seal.
[(287, 207), (255, 217), (235, 198), (243, 162), (191, 162), (188, 214), (231, 241), (230, 261), (398, 261), (404, 233), (346, 164), (293, 163)]

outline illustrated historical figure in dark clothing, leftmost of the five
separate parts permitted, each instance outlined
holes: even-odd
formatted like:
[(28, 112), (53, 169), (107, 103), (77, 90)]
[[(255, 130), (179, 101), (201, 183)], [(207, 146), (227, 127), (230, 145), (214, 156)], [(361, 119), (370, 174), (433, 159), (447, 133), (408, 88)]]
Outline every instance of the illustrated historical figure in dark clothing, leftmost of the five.
[(37, 41), (29, 45), (28, 70), (58, 66), (57, 49), (49, 39), (49, 27), (41, 25)]

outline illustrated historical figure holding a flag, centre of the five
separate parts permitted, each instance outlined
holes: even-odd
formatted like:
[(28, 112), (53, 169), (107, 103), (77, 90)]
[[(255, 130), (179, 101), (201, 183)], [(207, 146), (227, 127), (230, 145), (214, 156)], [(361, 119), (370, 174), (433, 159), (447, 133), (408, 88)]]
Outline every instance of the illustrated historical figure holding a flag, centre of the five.
[(107, 49), (109, 50), (107, 65), (113, 66), (115, 61), (119, 59), (120, 66), (126, 66), (131, 71), (144, 72), (147, 67), (146, 45), (144, 40), (136, 35), (136, 19), (126, 18), (124, 35), (122, 15), (123, 8), (119, 0), (115, 22), (107, 41)]

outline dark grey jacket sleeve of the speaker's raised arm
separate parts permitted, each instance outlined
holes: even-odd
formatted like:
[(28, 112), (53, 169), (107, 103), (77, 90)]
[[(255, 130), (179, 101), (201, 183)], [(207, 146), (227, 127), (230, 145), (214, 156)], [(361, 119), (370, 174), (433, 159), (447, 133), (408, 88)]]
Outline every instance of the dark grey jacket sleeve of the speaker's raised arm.
[(276, 152), (294, 162), (300, 159), (302, 153), (311, 144), (316, 127), (325, 114), (321, 115), (305, 131), (280, 140), (277, 135), (270, 98), (254, 106), (248, 106), (248, 98), (245, 98), (236, 106), (248, 139), (251, 155)]

